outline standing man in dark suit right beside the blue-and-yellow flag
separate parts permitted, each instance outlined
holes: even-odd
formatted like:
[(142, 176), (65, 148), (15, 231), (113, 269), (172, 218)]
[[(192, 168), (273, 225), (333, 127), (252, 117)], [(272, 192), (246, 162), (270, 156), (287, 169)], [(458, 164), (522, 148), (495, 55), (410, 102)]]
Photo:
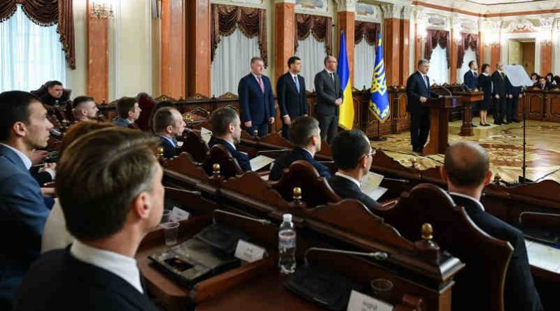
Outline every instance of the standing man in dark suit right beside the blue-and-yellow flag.
[(330, 145), (338, 131), (339, 106), (342, 105), (342, 83), (337, 74), (337, 59), (333, 56), (325, 57), (325, 70), (315, 75), (315, 92), (317, 106), (315, 117), (321, 129), (321, 140)]

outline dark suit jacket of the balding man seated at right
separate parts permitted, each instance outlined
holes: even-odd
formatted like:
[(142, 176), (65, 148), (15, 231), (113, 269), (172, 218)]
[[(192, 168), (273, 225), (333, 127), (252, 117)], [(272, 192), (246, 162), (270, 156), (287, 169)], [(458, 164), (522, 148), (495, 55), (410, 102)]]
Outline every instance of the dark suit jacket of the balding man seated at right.
[[(500, 219), (484, 212), (475, 201), (451, 194), (457, 205), (465, 208), (468, 216), (482, 231), (499, 240), (509, 242), (513, 247), (510, 265), (505, 273), (505, 310), (542, 310), (540, 297), (535, 289), (523, 233)], [(485, 256), (484, 254), (480, 254)], [(476, 284), (473, 284), (476, 286)]]

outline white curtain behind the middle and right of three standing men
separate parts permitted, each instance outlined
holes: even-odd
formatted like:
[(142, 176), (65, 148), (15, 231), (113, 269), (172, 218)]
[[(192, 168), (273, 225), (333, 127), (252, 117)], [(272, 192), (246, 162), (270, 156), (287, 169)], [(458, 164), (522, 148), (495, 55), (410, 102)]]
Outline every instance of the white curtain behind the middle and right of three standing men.
[(324, 60), (327, 56), (325, 43), (317, 41), (313, 34), (309, 34), (305, 40), (300, 40), (298, 43), (295, 56), (302, 59), (300, 75), (305, 79), (307, 91), (313, 91), (315, 89), (315, 75), (325, 68)]

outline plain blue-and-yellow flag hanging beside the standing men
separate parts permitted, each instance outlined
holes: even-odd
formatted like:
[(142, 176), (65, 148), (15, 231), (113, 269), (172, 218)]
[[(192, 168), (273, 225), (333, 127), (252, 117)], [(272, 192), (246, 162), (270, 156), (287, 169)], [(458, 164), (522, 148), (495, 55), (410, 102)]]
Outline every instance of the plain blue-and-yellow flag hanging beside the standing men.
[(354, 103), (352, 101), (352, 83), (350, 81), (350, 67), (348, 65), (348, 54), (346, 53), (346, 38), (344, 30), (340, 34), (340, 49), (338, 53), (338, 71), (342, 94), (344, 99), (339, 106), (338, 125), (343, 129), (352, 129), (354, 123)]

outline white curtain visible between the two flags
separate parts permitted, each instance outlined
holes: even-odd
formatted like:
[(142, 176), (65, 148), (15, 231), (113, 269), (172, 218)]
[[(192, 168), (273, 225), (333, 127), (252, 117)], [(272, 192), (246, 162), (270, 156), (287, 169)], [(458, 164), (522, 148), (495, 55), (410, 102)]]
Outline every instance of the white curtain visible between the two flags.
[(365, 38), (360, 44), (354, 45), (354, 80), (356, 89), (369, 89), (372, 86), (373, 69), (375, 66), (375, 46), (367, 44)]

